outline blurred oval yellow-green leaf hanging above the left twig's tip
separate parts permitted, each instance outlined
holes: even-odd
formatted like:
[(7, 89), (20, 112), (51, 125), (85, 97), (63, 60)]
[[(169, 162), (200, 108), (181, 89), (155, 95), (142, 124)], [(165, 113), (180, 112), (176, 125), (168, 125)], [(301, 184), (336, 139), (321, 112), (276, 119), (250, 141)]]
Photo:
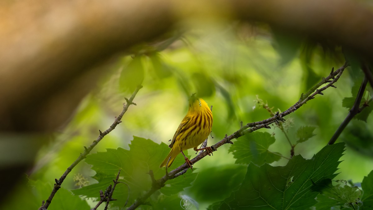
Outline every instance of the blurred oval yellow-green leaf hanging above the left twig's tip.
[(142, 56), (136, 56), (120, 73), (119, 86), (122, 91), (132, 93), (137, 86), (142, 84), (142, 81), (144, 81)]

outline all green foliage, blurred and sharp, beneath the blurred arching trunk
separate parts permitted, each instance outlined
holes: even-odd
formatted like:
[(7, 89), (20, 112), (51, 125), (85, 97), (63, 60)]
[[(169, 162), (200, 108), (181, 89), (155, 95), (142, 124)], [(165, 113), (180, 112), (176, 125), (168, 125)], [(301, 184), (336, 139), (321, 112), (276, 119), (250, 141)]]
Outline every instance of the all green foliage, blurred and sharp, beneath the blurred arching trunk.
[[(76, 160), (83, 146), (97, 138), (99, 129), (105, 130), (113, 123), (124, 98), (129, 98), (140, 83), (144, 88), (134, 99), (137, 106), (130, 106), (123, 122), (72, 170), (49, 209), (94, 207), (99, 191), (113, 183), (119, 169), (120, 181), (127, 183), (130, 191), (119, 183), (113, 195), (118, 200), (110, 202), (110, 209), (121, 209), (128, 193), (128, 206), (134, 203), (151, 188), (149, 170), (153, 170), (155, 179), (165, 174), (159, 164), (169, 152), (166, 143), (186, 114), (192, 93), (197, 92), (213, 106), (213, 138), (208, 140), (208, 145), (212, 145), (238, 130), (241, 121), (246, 124), (264, 120), (273, 114), (269, 110), (285, 111), (299, 100), (301, 93), (329, 75), (332, 67), (344, 64), (340, 47), (269, 29), (267, 25), (199, 24), (194, 30), (176, 33), (154, 46), (138, 46), (131, 51), (134, 55), (113, 62), (107, 77), (82, 101), (71, 121), (40, 150), (28, 173), (29, 181), (22, 182), (0, 209), (40, 207), (41, 201), (48, 198), (54, 179)], [(193, 172), (167, 181), (147, 200), (151, 206), (139, 209), (181, 209), (182, 198), (188, 198), (192, 209), (213, 209), (216, 205), (211, 204), (220, 201), (226, 202), (219, 203), (222, 208), (227, 204), (241, 206), (248, 202), (245, 195), (250, 195), (252, 202), (268, 201), (276, 209), (280, 208), (274, 200), (277, 198), (289, 202), (286, 205), (294, 209), (313, 205), (321, 208), (321, 201), (331, 202), (332, 196), (310, 188), (313, 182), (317, 185), (323, 179), (362, 182), (360, 207), (372, 206), (372, 172), (367, 176), (373, 168), (372, 106), (357, 115), (358, 120), (353, 120), (339, 138), (347, 145), (343, 162), (339, 160), (343, 144), (325, 147), (347, 116), (363, 80), (357, 59), (350, 54), (347, 58), (351, 68), (335, 83), (338, 88), (325, 90), (324, 95), (317, 95), (285, 117), (286, 124), (271, 125), (271, 129), (256, 131), (234, 140), (233, 145), (218, 148), (214, 156), (194, 164)], [(363, 101), (371, 98), (372, 91), (367, 87)], [(297, 145), (295, 156), (290, 160), (283, 158), (290, 157), (292, 144)], [(194, 153), (189, 150), (191, 157)], [(182, 163), (184, 158), (178, 155), (170, 170)], [(80, 180), (90, 185), (76, 189), (74, 174), (80, 174)], [(256, 195), (260, 186), (264, 200)], [(276, 188), (286, 189), (289, 194), (281, 194)], [(340, 190), (340, 195), (354, 189), (332, 188)], [(300, 189), (304, 191), (296, 194)], [(304, 201), (300, 204), (294, 198)], [(332, 205), (342, 205), (332, 201)]]

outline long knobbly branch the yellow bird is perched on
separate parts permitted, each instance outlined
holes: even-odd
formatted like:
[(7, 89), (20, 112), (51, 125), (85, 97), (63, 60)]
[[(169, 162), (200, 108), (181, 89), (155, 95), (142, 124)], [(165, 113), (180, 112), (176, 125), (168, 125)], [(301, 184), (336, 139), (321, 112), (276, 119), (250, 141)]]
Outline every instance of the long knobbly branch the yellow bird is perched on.
[[(220, 140), (219, 142), (217, 142), (216, 144), (214, 144), (213, 146), (211, 146), (211, 149), (216, 150), (217, 148), (219, 148), (220, 146), (222, 146), (222, 145), (224, 145), (226, 143), (233, 143), (231, 141), (232, 139), (239, 138), (240, 136), (243, 136), (243, 135), (246, 135), (248, 133), (251, 133), (254, 130), (258, 130), (258, 129), (261, 129), (261, 128), (270, 128), (269, 125), (272, 124), (272, 123), (275, 123), (277, 121), (285, 121), (283, 119), (283, 117), (285, 117), (288, 114), (291, 114), (291, 112), (294, 112), (295, 110), (297, 110), (298, 108), (300, 108), (302, 105), (304, 105), (309, 100), (314, 99), (315, 98), (314, 96), (316, 96), (317, 94), (322, 95), (323, 94), (322, 91), (324, 91), (328, 87), (335, 87), (333, 84), (336, 81), (338, 81), (339, 77), (341, 77), (341, 75), (342, 75), (342, 73), (343, 73), (343, 71), (345, 70), (346, 67), (348, 67), (347, 63), (345, 63), (338, 70), (332, 71), (328, 77), (323, 78), (322, 84), (328, 83), (326, 86), (324, 86), (324, 87), (322, 87), (320, 89), (317, 89), (317, 88), (319, 88), (322, 85), (320, 83), (317, 84), (318, 86), (316, 85), (315, 86), (316, 88), (314, 87), (314, 90), (316, 90), (316, 91), (314, 91), (313, 93), (310, 93), (310, 95), (308, 95), (307, 97), (305, 97), (303, 100), (298, 101), (296, 104), (294, 104), (293, 106), (291, 106), (286, 111), (284, 111), (284, 112), (282, 112), (280, 114), (276, 114), (275, 116), (270, 117), (270, 118), (268, 118), (266, 120), (262, 120), (262, 121), (258, 121), (258, 122), (254, 122), (254, 123), (248, 123), (247, 125), (242, 126), (241, 129), (237, 130), (232, 135), (230, 135), (230, 136), (225, 135), (225, 138), (223, 138), (222, 140)], [(205, 156), (207, 156), (207, 153), (208, 153), (207, 151), (202, 152), (201, 154), (198, 154), (195, 158), (193, 158), (190, 161), (192, 163), (196, 163), (197, 161), (199, 161), (202, 158), (204, 158)], [(138, 197), (136, 199), (136, 201), (127, 210), (134, 210), (138, 206), (144, 204), (145, 201), (150, 197), (150, 195), (152, 195), (154, 192), (156, 192), (158, 189), (160, 189), (160, 188), (162, 188), (164, 186), (164, 183), (167, 180), (174, 179), (175, 177), (184, 174), (187, 170), (188, 170), (188, 165), (186, 163), (184, 163), (181, 166), (179, 166), (176, 169), (174, 169), (171, 172), (169, 172), (168, 175), (164, 175), (160, 179), (154, 180), (151, 189), (148, 192), (146, 192), (144, 195)]]

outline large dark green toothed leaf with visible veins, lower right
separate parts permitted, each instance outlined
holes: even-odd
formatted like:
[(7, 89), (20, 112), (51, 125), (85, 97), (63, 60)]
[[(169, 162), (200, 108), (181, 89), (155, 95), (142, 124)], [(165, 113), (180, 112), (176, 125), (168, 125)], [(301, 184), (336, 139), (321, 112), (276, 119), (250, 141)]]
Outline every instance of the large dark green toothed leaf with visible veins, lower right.
[(310, 160), (296, 155), (286, 166), (250, 164), (241, 187), (210, 209), (307, 209), (316, 204), (319, 194), (311, 187), (336, 176), (343, 151), (344, 143), (337, 143), (325, 146)]

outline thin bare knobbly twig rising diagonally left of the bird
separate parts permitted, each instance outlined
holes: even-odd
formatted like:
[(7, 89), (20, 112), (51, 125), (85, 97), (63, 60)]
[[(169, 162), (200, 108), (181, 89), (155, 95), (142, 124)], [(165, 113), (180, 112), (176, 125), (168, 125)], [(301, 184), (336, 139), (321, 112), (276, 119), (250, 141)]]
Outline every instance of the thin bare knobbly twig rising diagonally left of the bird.
[(39, 208), (39, 210), (47, 210), (48, 209), (48, 206), (50, 205), (54, 195), (56, 194), (56, 192), (61, 188), (61, 184), (63, 182), (63, 180), (66, 179), (66, 176), (71, 172), (71, 170), (80, 162), (82, 161), (90, 152), (91, 150), (98, 144), (98, 142), (100, 142), (101, 139), (104, 138), (104, 136), (106, 136), (108, 133), (110, 133), (112, 130), (115, 129), (115, 127), (121, 123), (122, 121), (120, 121), (124, 115), (124, 113), (126, 113), (128, 107), (130, 105), (136, 105), (133, 100), (137, 94), (137, 92), (142, 88), (142, 86), (138, 86), (136, 88), (136, 90), (134, 91), (134, 93), (132, 94), (131, 98), (126, 99), (127, 103), (126, 104), (123, 104), (123, 110), (122, 112), (119, 114), (118, 117), (115, 118), (114, 120), (114, 123), (107, 129), (105, 130), (104, 132), (101, 132), (101, 130), (99, 130), (100, 132), (100, 135), (98, 135), (97, 139), (93, 141), (93, 143), (91, 144), (91, 146), (89, 146), (88, 148), (87, 147), (84, 147), (84, 152), (83, 154), (81, 153), (79, 155), (79, 157), (71, 164), (71, 166), (68, 167), (68, 169), (66, 169), (65, 173), (63, 173), (63, 175), (60, 177), (60, 179), (54, 179), (55, 180), (55, 184), (54, 184), (54, 187), (53, 187), (53, 190), (51, 192), (51, 194), (49, 195), (47, 201), (43, 204), (42, 203), (42, 206)]

